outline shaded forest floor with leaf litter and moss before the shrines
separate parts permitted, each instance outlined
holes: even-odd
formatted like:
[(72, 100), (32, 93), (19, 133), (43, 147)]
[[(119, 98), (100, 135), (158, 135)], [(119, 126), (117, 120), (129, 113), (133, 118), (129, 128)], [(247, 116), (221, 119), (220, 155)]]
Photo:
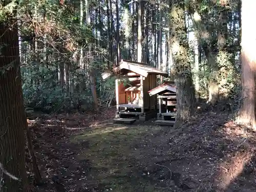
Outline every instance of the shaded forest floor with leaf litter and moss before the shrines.
[(177, 129), (113, 124), (114, 115), (30, 121), (45, 181), (36, 191), (256, 191), (256, 134), (228, 113), (203, 112)]

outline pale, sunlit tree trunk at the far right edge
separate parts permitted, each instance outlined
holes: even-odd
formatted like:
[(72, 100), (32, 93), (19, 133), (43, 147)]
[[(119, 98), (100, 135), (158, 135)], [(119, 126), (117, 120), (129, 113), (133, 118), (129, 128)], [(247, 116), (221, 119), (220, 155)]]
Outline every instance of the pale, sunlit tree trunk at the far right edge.
[(242, 1), (241, 22), (242, 22), (242, 37), (241, 37), (241, 61), (242, 61), (242, 105), (239, 110), (237, 122), (241, 124), (251, 124), (253, 129), (256, 129), (255, 122), (255, 47), (256, 34), (251, 30), (251, 14), (254, 13), (252, 0)]

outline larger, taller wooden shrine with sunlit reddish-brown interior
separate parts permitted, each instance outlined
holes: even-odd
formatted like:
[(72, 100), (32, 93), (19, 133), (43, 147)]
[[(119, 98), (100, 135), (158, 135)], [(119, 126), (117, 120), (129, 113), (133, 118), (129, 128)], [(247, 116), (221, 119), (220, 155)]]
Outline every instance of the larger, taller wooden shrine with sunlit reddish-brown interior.
[(157, 98), (147, 92), (156, 87), (157, 75), (167, 77), (168, 73), (145, 63), (130, 60), (121, 60), (115, 71), (118, 71), (116, 79), (118, 119), (114, 122), (133, 123), (135, 118), (147, 120), (156, 115)]

